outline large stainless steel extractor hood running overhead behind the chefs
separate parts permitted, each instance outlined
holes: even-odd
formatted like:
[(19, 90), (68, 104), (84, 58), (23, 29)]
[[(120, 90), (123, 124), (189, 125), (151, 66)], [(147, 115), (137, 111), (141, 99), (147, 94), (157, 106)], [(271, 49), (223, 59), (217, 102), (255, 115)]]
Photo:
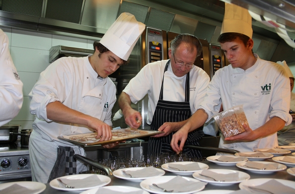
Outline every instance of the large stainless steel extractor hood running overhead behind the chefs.
[[(228, 0), (231, 1), (231, 0)], [(289, 29), (295, 29), (295, 5), (291, 0), (232, 0), (234, 4), (255, 13), (273, 15)], [(263, 6), (262, 6), (263, 5)], [(74, 36), (101, 38), (122, 12), (133, 14), (146, 26), (175, 33), (189, 33), (218, 44), (224, 16), (224, 2), (219, 0), (0, 0), (0, 26)], [(253, 33), (271, 39), (267, 45), (277, 47), (269, 56), (268, 47), (262, 49), (265, 60), (295, 62), (293, 48), (285, 46), (273, 29), (252, 21)], [(288, 32), (295, 39), (294, 32)], [(269, 43), (270, 42), (270, 43)], [(275, 42), (275, 44), (272, 44)], [(265, 44), (264, 44), (265, 45)], [(280, 51), (280, 54), (275, 54)], [(259, 52), (258, 52), (259, 53)], [(281, 55), (283, 54), (283, 55)], [(265, 55), (265, 56), (263, 56)]]

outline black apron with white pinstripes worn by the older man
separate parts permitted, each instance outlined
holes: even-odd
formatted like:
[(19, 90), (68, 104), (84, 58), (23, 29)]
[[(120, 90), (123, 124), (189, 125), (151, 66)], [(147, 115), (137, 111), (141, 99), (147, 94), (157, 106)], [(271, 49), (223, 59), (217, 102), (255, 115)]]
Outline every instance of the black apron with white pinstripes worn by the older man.
[[(165, 71), (167, 71), (170, 60), (166, 63)], [(165, 122), (181, 122), (187, 120), (191, 117), (191, 110), (189, 104), (189, 72), (186, 74), (186, 83), (185, 83), (185, 102), (172, 102), (172, 101), (163, 101), (163, 83), (164, 75), (162, 81), (162, 87), (160, 92), (160, 97), (156, 110), (153, 116), (153, 121), (151, 123), (151, 129), (158, 131), (158, 129)], [(170, 133), (168, 136), (154, 138), (150, 137), (149, 139), (149, 149), (148, 154), (161, 154), (172, 152), (170, 146), (172, 135), (176, 132)], [(194, 130), (188, 134), (185, 145), (195, 145), (199, 146), (198, 140), (204, 136), (203, 130)], [(187, 153), (193, 157), (201, 157), (201, 153), (198, 150), (185, 148), (182, 153)]]

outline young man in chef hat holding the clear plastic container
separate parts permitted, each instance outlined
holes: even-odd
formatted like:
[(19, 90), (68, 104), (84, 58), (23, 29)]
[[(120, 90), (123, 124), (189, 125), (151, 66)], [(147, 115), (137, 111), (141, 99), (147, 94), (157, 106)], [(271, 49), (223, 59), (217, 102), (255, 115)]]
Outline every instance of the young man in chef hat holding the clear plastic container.
[(220, 148), (240, 152), (273, 148), (278, 145), (276, 132), (292, 121), (289, 78), (281, 65), (253, 54), (251, 21), (246, 9), (226, 4), (218, 42), (231, 64), (216, 71), (198, 110), (173, 135), (176, 152), (183, 149), (187, 134), (216, 115), (221, 104), (224, 110), (243, 105), (249, 126), (236, 136), (221, 135)]

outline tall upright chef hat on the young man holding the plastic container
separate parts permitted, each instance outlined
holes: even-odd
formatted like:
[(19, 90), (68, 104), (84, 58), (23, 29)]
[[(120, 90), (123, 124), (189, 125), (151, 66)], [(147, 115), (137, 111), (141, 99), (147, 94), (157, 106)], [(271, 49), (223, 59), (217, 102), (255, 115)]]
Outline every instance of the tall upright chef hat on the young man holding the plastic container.
[(225, 3), (225, 16), (220, 34), (236, 32), (252, 38), (252, 17), (247, 9)]

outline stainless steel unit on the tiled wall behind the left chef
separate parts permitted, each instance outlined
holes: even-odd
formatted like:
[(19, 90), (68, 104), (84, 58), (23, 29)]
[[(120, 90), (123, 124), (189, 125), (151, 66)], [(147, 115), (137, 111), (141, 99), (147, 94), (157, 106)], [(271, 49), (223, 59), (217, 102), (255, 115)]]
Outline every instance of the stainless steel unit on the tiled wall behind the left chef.
[(93, 49), (77, 48), (69, 46), (53, 46), (49, 50), (49, 63), (60, 57), (85, 57), (94, 53)]

